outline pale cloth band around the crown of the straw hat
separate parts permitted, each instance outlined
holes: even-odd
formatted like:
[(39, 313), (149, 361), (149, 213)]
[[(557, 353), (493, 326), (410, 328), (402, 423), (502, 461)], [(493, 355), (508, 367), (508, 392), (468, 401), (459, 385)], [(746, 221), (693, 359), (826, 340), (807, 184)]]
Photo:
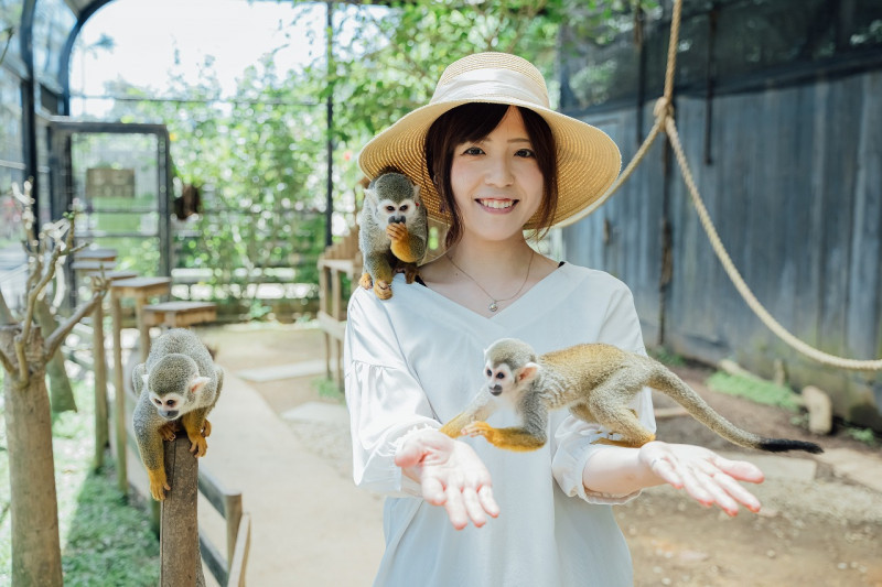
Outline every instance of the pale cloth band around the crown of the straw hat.
[[(535, 88), (535, 89), (534, 89)], [(538, 91), (537, 91), (538, 90)], [(527, 76), (512, 72), (485, 67), (458, 75), (451, 83), (438, 85), (429, 104), (475, 100), (512, 99), (548, 108), (548, 91), (539, 88)]]

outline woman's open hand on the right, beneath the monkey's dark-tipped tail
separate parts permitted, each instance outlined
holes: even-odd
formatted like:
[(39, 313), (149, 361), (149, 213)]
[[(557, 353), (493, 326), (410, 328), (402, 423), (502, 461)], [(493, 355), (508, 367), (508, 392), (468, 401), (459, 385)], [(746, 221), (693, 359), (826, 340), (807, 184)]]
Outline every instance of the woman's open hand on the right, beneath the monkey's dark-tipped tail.
[(639, 448), (639, 460), (702, 506), (716, 503), (729, 515), (738, 513), (739, 503), (754, 513), (760, 511), (760, 500), (739, 482), (763, 482), (763, 471), (751, 463), (730, 460), (701, 446), (658, 441)]

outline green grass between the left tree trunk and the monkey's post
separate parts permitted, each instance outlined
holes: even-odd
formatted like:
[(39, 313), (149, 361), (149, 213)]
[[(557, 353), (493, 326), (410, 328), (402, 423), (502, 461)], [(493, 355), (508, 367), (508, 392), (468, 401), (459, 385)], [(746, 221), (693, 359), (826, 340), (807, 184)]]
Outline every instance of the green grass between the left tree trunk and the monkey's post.
[[(52, 426), (64, 584), (153, 587), (159, 583), (159, 540), (150, 530), (149, 514), (143, 504), (127, 502), (117, 490), (109, 454), (105, 467), (93, 472), (93, 388), (84, 381), (72, 383), (79, 412), (55, 416)], [(0, 426), (0, 585), (11, 583), (6, 447), (6, 426)]]

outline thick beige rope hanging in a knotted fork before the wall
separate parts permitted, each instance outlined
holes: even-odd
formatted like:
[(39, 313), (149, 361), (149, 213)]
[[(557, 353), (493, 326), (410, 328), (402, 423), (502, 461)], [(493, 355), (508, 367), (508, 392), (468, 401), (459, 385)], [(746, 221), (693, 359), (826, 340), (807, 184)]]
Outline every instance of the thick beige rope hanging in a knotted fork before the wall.
[(729, 253), (725, 250), (722, 241), (720, 240), (720, 236), (717, 233), (717, 229), (713, 226), (713, 221), (708, 214), (708, 209), (704, 206), (703, 200), (701, 199), (701, 194), (698, 192), (698, 187), (696, 186), (695, 180), (692, 178), (692, 172), (689, 169), (689, 163), (686, 160), (686, 153), (682, 150), (682, 144), (680, 143), (680, 137), (677, 132), (677, 123), (674, 119), (674, 106), (673, 106), (673, 97), (674, 97), (674, 74), (676, 72), (676, 64), (677, 64), (677, 44), (679, 42), (679, 33), (680, 33), (680, 11), (682, 8), (682, 0), (675, 0), (674, 2), (674, 14), (670, 21), (670, 41), (668, 43), (668, 62), (667, 62), (667, 69), (665, 72), (665, 93), (664, 95), (656, 101), (655, 108), (653, 109), (653, 113), (655, 115), (655, 124), (649, 130), (649, 133), (646, 137), (646, 140), (637, 150), (637, 153), (634, 155), (634, 159), (631, 163), (627, 164), (625, 171), (622, 172), (620, 177), (610, 186), (610, 188), (591, 206), (589, 206), (582, 213), (573, 216), (572, 218), (568, 219), (566, 222), (561, 224), (560, 226), (568, 226), (578, 220), (581, 220), (595, 209), (598, 209), (604, 202), (606, 202), (610, 196), (612, 196), (622, 184), (631, 176), (637, 165), (643, 161), (643, 157), (646, 155), (646, 152), (649, 150), (649, 146), (655, 141), (656, 137), (658, 137), (662, 130), (668, 137), (670, 141), (670, 145), (674, 149), (674, 153), (677, 157), (677, 163), (679, 164), (680, 172), (682, 173), (684, 181), (686, 182), (687, 191), (689, 192), (689, 196), (692, 198), (692, 204), (696, 207), (696, 211), (698, 213), (698, 218), (701, 221), (701, 226), (704, 228), (704, 232), (708, 235), (708, 239), (710, 240), (711, 248), (713, 252), (717, 254), (717, 258), (720, 260), (720, 263), (723, 265), (727, 275), (732, 281), (732, 284), (735, 286), (738, 292), (741, 294), (741, 297), (744, 298), (744, 302), (747, 303), (747, 306), (753, 311), (754, 314), (760, 318), (760, 320), (770, 329), (772, 330), (778, 338), (784, 340), (788, 346), (790, 346), (794, 350), (802, 352), (806, 357), (818, 361), (822, 365), (828, 365), (830, 367), (838, 367), (840, 369), (849, 369), (849, 370), (865, 370), (865, 371), (879, 371), (882, 370), (882, 359), (875, 360), (860, 360), (860, 359), (847, 359), (843, 357), (837, 357), (835, 355), (830, 355), (828, 352), (824, 352), (805, 341), (800, 340), (796, 336), (794, 336), (789, 330), (784, 328), (773, 316), (768, 313), (768, 311), (756, 300), (756, 296), (753, 294), (751, 289), (744, 282), (744, 279), (739, 273), (738, 268), (735, 268), (732, 259), (729, 257)]

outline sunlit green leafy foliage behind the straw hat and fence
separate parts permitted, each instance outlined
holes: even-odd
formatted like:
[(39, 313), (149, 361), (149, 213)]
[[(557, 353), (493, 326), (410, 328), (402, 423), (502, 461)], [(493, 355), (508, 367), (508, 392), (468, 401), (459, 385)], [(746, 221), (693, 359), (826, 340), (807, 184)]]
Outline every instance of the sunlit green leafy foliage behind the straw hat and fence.
[[(606, 23), (621, 28), (619, 17), (630, 13), (632, 3), (408, 0), (333, 6), (331, 51), (313, 48), (314, 63), (291, 73), (279, 72), (269, 54), (243, 74), (232, 97), (222, 97), (212, 57), (195, 79), (172, 70), (162, 91), (123, 81), (106, 88), (129, 98), (164, 98), (117, 101), (109, 118), (169, 127), (178, 176), (203, 188), (204, 214), (187, 226), (192, 236), (178, 243), (178, 265), (212, 268), (211, 284), (219, 287), (220, 297), (252, 295), (255, 289), (247, 285), (266, 268), (302, 267), (299, 281), (318, 281), (311, 265), (324, 248), (329, 139), (338, 232), (340, 226), (354, 224), (361, 180), (355, 154), (377, 131), (426, 104), (448, 64), (481, 51), (513, 52), (533, 61), (553, 84), (561, 23), (581, 22), (585, 34), (609, 34)], [(294, 10), (297, 20), (298, 11), (314, 10), (314, 3), (295, 1)], [(327, 40), (316, 33), (305, 42), (326, 47)], [(553, 99), (553, 85), (550, 94)], [(120, 262), (127, 263), (136, 261)], [(236, 271), (241, 269), (247, 271)]]

